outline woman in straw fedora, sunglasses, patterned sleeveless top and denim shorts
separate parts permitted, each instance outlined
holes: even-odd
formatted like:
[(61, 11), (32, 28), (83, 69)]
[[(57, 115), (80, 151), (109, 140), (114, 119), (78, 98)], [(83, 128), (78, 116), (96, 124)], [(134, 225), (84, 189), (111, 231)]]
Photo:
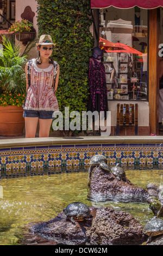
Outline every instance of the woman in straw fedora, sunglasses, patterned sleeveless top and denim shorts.
[(55, 92), (59, 65), (51, 59), (54, 43), (50, 35), (41, 35), (36, 44), (39, 57), (26, 64), (27, 95), (23, 104), (26, 138), (34, 138), (39, 121), (39, 137), (48, 137), (53, 112), (58, 112)]

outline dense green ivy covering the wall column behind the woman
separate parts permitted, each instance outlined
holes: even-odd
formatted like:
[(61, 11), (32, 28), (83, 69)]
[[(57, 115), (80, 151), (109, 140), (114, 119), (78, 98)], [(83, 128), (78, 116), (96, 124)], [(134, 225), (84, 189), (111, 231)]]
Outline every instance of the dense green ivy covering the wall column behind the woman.
[(53, 59), (59, 63), (57, 99), (60, 111), (87, 111), (88, 62), (94, 40), (89, 0), (37, 0), (39, 36), (50, 34), (57, 44)]

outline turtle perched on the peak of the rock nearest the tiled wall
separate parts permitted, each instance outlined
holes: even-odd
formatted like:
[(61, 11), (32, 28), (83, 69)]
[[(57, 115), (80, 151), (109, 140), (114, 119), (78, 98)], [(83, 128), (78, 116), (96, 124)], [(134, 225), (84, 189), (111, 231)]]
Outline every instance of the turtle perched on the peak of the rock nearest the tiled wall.
[(89, 185), (90, 185), (90, 181), (91, 181), (92, 169), (94, 167), (101, 167), (102, 169), (106, 170), (107, 172), (110, 172), (110, 168), (107, 164), (107, 159), (104, 155), (98, 154), (98, 155), (92, 156), (92, 158), (90, 160), (89, 177), (88, 177)]

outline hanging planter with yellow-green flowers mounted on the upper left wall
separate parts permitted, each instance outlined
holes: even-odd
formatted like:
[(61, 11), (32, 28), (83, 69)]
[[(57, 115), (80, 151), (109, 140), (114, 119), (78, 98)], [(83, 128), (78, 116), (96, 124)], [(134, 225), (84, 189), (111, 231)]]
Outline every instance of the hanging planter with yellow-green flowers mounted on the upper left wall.
[(23, 45), (27, 45), (27, 43), (36, 35), (33, 28), (33, 23), (25, 19), (16, 21), (14, 24), (12, 24), (8, 32), (14, 32), (16, 39), (18, 41), (22, 41)]

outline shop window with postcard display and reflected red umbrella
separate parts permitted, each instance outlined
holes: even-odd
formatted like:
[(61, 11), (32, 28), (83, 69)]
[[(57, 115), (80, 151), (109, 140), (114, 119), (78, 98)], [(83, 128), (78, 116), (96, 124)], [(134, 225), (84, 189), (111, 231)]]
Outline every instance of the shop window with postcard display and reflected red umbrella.
[(147, 100), (147, 10), (99, 10), (108, 100)]

